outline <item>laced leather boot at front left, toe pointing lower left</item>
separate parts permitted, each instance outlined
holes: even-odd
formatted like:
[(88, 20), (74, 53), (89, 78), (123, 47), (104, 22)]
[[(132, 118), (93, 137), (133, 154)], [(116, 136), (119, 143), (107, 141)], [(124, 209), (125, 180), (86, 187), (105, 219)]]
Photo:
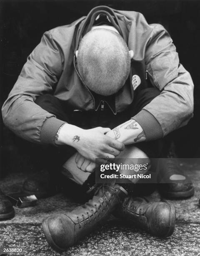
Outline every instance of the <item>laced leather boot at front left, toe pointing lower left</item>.
[(46, 218), (42, 222), (42, 229), (47, 242), (55, 250), (65, 251), (107, 220), (126, 195), (125, 189), (117, 184), (102, 185), (85, 205), (72, 212)]

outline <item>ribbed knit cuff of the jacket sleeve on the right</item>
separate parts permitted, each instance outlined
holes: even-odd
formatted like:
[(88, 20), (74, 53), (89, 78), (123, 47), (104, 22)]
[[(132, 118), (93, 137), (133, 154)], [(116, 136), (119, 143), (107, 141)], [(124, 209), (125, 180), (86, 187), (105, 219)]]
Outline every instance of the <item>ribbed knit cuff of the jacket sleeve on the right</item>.
[(147, 110), (142, 109), (133, 118), (140, 124), (146, 136), (146, 141), (153, 141), (158, 138), (163, 138), (163, 130), (157, 119)]

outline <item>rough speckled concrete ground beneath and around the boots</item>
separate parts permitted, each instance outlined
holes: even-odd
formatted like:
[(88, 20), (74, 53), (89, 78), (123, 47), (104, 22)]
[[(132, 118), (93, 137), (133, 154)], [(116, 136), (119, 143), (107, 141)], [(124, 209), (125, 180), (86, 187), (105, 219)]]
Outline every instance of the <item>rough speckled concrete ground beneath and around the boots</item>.
[[(157, 238), (134, 228), (122, 220), (110, 218), (87, 238), (65, 253), (59, 254), (48, 246), (41, 232), (42, 219), (54, 213), (72, 210), (77, 204), (62, 194), (39, 200), (35, 207), (15, 208), (15, 217), (0, 222), (0, 255), (3, 248), (22, 248), (21, 253), (10, 255), (30, 256), (193, 256), (200, 255), (200, 166), (186, 166), (185, 173), (195, 186), (195, 195), (187, 200), (173, 200), (177, 212), (177, 225), (170, 238)], [(4, 192), (16, 192), (24, 174), (10, 174), (0, 187)], [(158, 192), (149, 197), (160, 200)]]

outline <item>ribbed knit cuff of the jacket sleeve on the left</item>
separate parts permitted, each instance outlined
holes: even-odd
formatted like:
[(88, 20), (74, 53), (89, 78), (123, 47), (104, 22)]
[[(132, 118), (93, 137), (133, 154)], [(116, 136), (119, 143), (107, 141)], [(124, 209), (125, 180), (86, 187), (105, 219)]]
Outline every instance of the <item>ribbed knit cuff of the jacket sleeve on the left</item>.
[(42, 144), (53, 144), (55, 136), (57, 134), (58, 129), (60, 128), (64, 121), (61, 121), (55, 117), (50, 117), (45, 120), (42, 125), (42, 129), (40, 131), (40, 142)]

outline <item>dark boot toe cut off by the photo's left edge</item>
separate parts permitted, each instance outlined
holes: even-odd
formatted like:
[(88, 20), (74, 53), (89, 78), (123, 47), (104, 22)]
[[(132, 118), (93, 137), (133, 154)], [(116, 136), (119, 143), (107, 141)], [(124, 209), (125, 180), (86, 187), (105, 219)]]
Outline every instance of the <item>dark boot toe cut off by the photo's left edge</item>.
[(15, 211), (13, 205), (0, 189), (0, 220), (10, 219), (14, 216)]

